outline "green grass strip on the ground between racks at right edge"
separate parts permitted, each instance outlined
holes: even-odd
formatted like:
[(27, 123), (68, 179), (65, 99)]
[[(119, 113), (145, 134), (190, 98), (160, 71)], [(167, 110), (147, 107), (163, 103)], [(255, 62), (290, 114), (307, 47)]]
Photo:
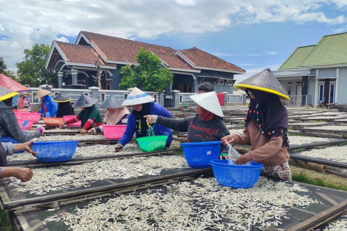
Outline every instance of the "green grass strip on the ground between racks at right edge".
[(330, 182), (328, 180), (311, 178), (305, 174), (304, 170), (301, 171), (300, 173), (292, 172), (291, 179), (294, 181), (305, 183), (305, 184), (317, 185), (317, 186), (347, 191), (346, 185), (336, 184), (336, 183)]

